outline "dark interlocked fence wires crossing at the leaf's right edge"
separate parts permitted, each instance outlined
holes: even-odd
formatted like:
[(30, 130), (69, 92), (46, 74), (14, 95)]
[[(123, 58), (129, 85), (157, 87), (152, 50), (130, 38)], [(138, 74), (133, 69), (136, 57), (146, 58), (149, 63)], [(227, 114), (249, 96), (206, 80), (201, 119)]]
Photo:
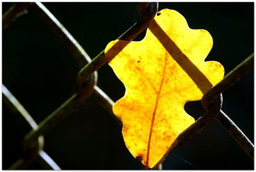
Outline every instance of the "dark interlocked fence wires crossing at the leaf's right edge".
[[(202, 106), (206, 110), (205, 114), (193, 123), (188, 129), (184, 130), (172, 145), (170, 152), (175, 150), (184, 141), (189, 139), (191, 136), (200, 132), (204, 127), (210, 123), (214, 118), (221, 123), (221, 125), (227, 130), (227, 132), (237, 141), (237, 143), (243, 148), (244, 152), (253, 160), (254, 145), (252, 142), (243, 134), (243, 132), (237, 127), (237, 125), (228, 118), (227, 114), (221, 111), (222, 100), (220, 100), (220, 94), (223, 93), (227, 88), (232, 86), (235, 82), (239, 81), (244, 75), (248, 74), (253, 69), (253, 57), (251, 54), (248, 58), (244, 59), (239, 65), (236, 66), (232, 71), (225, 75), (224, 79), (216, 84), (211, 90), (209, 90), (202, 98)], [(222, 99), (222, 98), (221, 98)], [(216, 100), (219, 104), (216, 104)], [(212, 111), (212, 108), (220, 106), (218, 111)]]

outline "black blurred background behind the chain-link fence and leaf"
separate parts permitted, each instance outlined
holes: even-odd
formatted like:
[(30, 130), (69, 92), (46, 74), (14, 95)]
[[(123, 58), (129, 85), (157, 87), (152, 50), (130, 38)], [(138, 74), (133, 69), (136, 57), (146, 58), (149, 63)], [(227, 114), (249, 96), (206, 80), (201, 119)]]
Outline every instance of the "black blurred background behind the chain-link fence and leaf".
[[(3, 13), (13, 3), (2, 3)], [(136, 3), (43, 3), (76, 38), (91, 58), (138, 19)], [(216, 60), (225, 74), (253, 52), (253, 3), (159, 3), (177, 10), (192, 29), (206, 29), (214, 40), (206, 60)], [(141, 40), (145, 31), (136, 40)], [(81, 66), (47, 25), (28, 12), (3, 31), (3, 84), (36, 123), (44, 120), (77, 91)], [(114, 101), (124, 85), (108, 64), (98, 71), (98, 86)], [(204, 109), (189, 102), (186, 111), (198, 119)], [(253, 142), (253, 72), (223, 93), (223, 111)], [(23, 118), (3, 104), (3, 169), (22, 156), (29, 132)], [(140, 169), (125, 148), (115, 120), (92, 98), (45, 134), (44, 150), (61, 169)], [(36, 162), (28, 169), (42, 169)], [(253, 169), (253, 161), (236, 141), (212, 121), (168, 155), (163, 169)]]

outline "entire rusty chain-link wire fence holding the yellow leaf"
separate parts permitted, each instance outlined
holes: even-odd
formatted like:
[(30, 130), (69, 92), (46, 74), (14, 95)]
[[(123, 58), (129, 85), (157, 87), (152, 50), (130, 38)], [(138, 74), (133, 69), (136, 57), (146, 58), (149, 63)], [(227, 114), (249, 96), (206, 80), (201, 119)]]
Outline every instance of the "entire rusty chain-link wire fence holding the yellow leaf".
[[(141, 3), (143, 8), (138, 8), (141, 13), (141, 19), (128, 29), (118, 39), (132, 40), (141, 31), (147, 28), (150, 21), (154, 18), (157, 13), (158, 3)], [(33, 160), (42, 162), (45, 169), (60, 169), (58, 165), (44, 152), (44, 137), (43, 135), (52, 129), (60, 121), (72, 113), (74, 109), (79, 107), (81, 103), (88, 98), (90, 95), (102, 106), (109, 114), (116, 119), (116, 121), (122, 125), (122, 123), (113, 114), (112, 106), (113, 100), (106, 95), (99, 87), (97, 87), (97, 70), (107, 62), (104, 58), (104, 51), (100, 52), (95, 58), (90, 59), (88, 54), (84, 51), (83, 47), (74, 39), (67, 29), (52, 15), (42, 3), (19, 3), (16, 6), (12, 6), (3, 15), (3, 29), (5, 29), (13, 20), (17, 19), (19, 15), (26, 9), (32, 10), (38, 15), (51, 29), (60, 37), (72, 52), (74, 58), (83, 66), (77, 75), (77, 81), (81, 88), (68, 98), (60, 107), (52, 112), (45, 120), (38, 125), (35, 123), (29, 113), (22, 107), (19, 102), (13, 97), (12, 93), (3, 86), (4, 102), (8, 104), (10, 108), (14, 108), (19, 112), (24, 119), (31, 125), (31, 132), (29, 132), (24, 140), (24, 152), (27, 156), (20, 158), (15, 162), (10, 169), (24, 169)], [(173, 145), (171, 146), (170, 152), (178, 148), (184, 141), (188, 140), (197, 132), (204, 129), (212, 120), (216, 119), (227, 132), (234, 137), (237, 143), (243, 148), (243, 150), (253, 159), (254, 145), (250, 140), (243, 134), (243, 132), (236, 126), (236, 124), (228, 118), (227, 114), (221, 111), (222, 95), (227, 88), (232, 86), (234, 82), (239, 81), (244, 75), (246, 75), (253, 68), (253, 57), (251, 54), (242, 63), (240, 63), (234, 70), (228, 73), (223, 81), (214, 86), (211, 90), (205, 93), (202, 98), (202, 106), (205, 109), (205, 114), (202, 115), (198, 120), (193, 123), (188, 129), (184, 130)], [(32, 152), (32, 153), (31, 153)], [(166, 153), (167, 155), (167, 153)], [(165, 156), (164, 156), (165, 157)]]

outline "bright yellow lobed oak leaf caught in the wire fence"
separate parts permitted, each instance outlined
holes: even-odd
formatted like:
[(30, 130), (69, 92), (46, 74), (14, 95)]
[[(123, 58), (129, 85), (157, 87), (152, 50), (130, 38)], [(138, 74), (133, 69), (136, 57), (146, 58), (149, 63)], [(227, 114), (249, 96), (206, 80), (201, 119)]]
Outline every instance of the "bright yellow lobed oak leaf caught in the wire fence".
[(157, 13), (141, 42), (107, 45), (105, 56), (126, 88), (113, 112), (122, 120), (125, 145), (146, 168), (160, 164), (195, 121), (184, 104), (200, 100), (223, 79), (220, 63), (204, 61), (211, 48), (207, 31), (190, 29), (180, 13), (168, 9)]

